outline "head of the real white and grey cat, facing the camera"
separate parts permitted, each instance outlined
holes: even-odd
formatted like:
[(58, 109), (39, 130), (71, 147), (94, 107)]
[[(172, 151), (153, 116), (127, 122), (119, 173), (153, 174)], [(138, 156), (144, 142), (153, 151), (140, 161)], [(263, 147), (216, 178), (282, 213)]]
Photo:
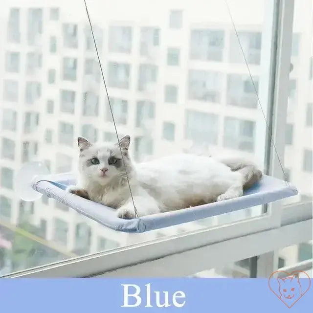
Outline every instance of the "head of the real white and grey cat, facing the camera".
[(115, 144), (96, 145), (78, 137), (79, 171), (82, 178), (107, 185), (114, 178), (126, 178), (126, 171), (131, 175), (132, 162), (128, 153), (130, 141), (131, 137), (127, 135)]

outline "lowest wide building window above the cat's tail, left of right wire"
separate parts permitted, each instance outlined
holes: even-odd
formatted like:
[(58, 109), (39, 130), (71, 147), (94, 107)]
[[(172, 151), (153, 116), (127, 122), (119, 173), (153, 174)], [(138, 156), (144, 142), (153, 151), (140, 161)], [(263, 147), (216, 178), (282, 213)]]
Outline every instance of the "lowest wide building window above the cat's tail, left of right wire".
[(255, 122), (225, 117), (224, 147), (247, 152), (254, 151)]

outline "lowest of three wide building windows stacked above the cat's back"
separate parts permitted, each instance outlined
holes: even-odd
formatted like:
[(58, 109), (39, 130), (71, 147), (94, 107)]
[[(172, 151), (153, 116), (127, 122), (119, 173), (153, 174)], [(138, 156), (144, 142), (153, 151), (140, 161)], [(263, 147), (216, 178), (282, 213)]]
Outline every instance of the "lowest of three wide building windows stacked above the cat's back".
[(185, 138), (196, 144), (217, 144), (219, 117), (216, 114), (186, 110)]

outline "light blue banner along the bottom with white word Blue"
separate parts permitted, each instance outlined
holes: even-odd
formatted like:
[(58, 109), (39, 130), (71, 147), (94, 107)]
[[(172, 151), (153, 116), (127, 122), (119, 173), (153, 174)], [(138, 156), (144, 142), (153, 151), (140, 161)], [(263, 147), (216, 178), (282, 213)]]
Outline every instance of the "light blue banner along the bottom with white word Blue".
[(0, 279), (0, 312), (279, 313), (312, 308), (311, 279), (297, 280), (299, 294), (299, 285), (275, 281), (270, 286), (268, 279), (252, 278)]

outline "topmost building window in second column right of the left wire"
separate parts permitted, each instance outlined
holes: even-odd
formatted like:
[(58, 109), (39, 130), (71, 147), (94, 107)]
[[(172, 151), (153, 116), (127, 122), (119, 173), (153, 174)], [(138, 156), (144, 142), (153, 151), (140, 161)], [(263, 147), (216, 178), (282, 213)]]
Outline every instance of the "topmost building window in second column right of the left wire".
[(160, 44), (160, 30), (153, 27), (140, 28), (140, 55), (156, 58), (156, 47)]

